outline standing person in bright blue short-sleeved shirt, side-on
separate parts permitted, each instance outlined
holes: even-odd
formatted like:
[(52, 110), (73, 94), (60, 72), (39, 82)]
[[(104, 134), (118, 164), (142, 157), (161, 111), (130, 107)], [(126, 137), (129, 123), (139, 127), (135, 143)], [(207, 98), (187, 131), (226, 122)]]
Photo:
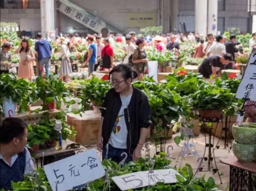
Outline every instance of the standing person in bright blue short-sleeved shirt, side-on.
[(94, 40), (94, 36), (93, 35), (89, 35), (87, 37), (87, 42), (89, 44), (89, 47), (88, 47), (88, 58), (87, 60), (85, 61), (84, 65), (86, 65), (87, 63), (88, 64), (88, 72), (89, 72), (89, 75), (91, 73), (93, 73), (93, 70), (94, 70), (94, 66), (95, 64), (97, 63), (97, 46), (96, 44), (93, 42)]

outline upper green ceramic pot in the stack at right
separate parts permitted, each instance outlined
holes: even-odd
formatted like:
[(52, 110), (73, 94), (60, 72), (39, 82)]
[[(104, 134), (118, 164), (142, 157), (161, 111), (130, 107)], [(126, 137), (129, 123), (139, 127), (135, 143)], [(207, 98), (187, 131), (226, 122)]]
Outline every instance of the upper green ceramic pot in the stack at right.
[(233, 124), (232, 133), (235, 141), (244, 145), (256, 144), (256, 124), (243, 123), (241, 125)]

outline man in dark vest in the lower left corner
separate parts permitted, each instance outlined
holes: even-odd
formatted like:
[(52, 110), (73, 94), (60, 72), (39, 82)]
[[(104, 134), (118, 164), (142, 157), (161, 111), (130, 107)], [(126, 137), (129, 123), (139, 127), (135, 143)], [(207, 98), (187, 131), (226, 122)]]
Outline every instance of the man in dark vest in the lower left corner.
[(19, 118), (4, 119), (0, 126), (0, 189), (11, 190), (11, 181), (23, 181), (24, 173), (34, 169), (26, 143), (26, 122)]

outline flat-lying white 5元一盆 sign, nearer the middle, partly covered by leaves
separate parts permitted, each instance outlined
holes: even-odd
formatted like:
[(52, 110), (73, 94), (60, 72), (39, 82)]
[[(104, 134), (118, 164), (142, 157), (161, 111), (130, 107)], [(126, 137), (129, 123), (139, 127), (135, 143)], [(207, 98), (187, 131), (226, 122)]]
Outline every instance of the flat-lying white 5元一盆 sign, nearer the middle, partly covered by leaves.
[(141, 171), (122, 176), (115, 176), (112, 177), (112, 180), (120, 190), (124, 191), (128, 189), (148, 187), (149, 185), (157, 184), (157, 182), (173, 184), (176, 183), (176, 174), (179, 173), (173, 169)]

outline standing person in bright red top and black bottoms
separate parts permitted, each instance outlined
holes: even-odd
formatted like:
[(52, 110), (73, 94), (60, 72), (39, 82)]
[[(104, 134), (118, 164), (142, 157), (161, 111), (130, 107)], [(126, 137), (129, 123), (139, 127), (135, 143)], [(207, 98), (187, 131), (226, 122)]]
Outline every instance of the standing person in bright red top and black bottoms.
[(114, 60), (114, 51), (113, 48), (109, 44), (108, 38), (103, 40), (104, 48), (101, 51), (102, 57), (102, 67), (101, 70), (113, 68), (113, 60)]

